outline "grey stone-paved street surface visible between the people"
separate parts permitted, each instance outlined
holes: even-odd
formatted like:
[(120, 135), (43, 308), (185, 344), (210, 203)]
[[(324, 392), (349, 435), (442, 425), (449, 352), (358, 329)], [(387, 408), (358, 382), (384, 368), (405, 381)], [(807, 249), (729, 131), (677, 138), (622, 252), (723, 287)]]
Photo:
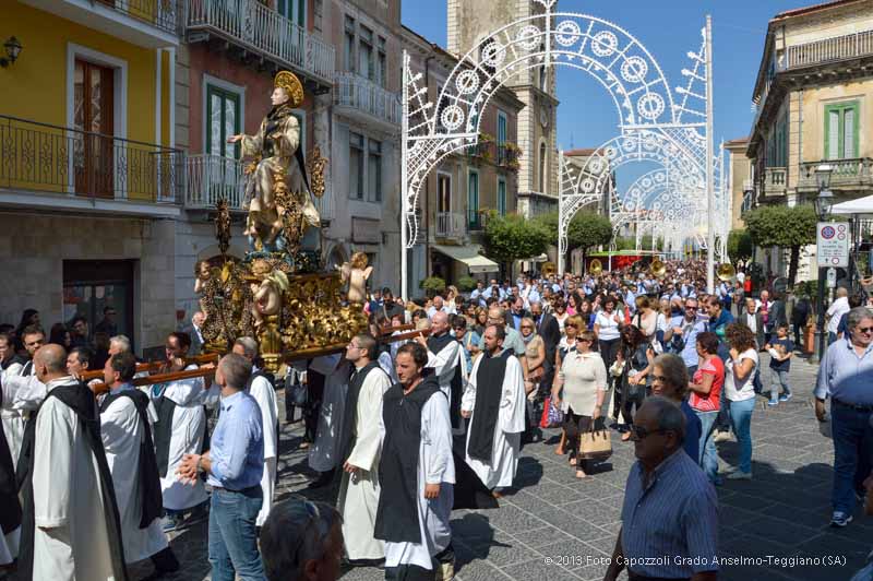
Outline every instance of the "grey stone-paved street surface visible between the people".
[[(766, 367), (766, 364), (765, 364)], [(769, 408), (763, 399), (752, 418), (754, 481), (730, 482), (718, 490), (722, 557), (760, 557), (760, 564), (728, 567), (720, 579), (849, 579), (873, 548), (873, 518), (856, 514), (845, 530), (827, 526), (830, 515), (832, 444), (812, 413), (814, 368), (796, 360), (797, 386), (790, 402)], [(765, 369), (766, 378), (766, 369)], [(551, 430), (549, 436), (554, 436)], [(306, 455), (297, 451), (299, 424), (284, 426), (280, 485), (285, 498), (302, 494), (326, 500), (331, 490), (301, 490), (307, 483)], [(488, 511), (453, 514), (457, 577), (471, 580), (601, 579), (600, 561), (612, 552), (619, 530), (624, 481), (633, 462), (631, 443), (613, 439), (615, 453), (600, 472), (578, 482), (554, 446), (531, 444), (523, 451), (517, 489)], [(722, 460), (732, 463), (736, 443), (720, 444)], [(860, 511), (859, 511), (860, 513)], [(184, 562), (177, 580), (208, 578), (204, 523), (176, 535), (172, 545)], [(845, 559), (845, 566), (779, 566), (773, 558)], [(551, 562), (548, 562), (551, 559)], [(143, 579), (151, 565), (135, 569)], [(382, 579), (375, 568), (354, 569), (343, 579)]]

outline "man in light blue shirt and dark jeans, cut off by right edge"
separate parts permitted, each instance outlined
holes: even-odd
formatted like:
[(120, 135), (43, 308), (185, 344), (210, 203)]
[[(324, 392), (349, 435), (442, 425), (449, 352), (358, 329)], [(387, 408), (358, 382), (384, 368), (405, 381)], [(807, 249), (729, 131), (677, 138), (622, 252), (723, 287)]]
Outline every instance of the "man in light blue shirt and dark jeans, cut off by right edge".
[(815, 416), (825, 420), (825, 400), (830, 398), (830, 431), (834, 439), (834, 489), (832, 526), (852, 520), (858, 499), (863, 498), (873, 448), (873, 310), (849, 311), (848, 336), (827, 347), (815, 386)]

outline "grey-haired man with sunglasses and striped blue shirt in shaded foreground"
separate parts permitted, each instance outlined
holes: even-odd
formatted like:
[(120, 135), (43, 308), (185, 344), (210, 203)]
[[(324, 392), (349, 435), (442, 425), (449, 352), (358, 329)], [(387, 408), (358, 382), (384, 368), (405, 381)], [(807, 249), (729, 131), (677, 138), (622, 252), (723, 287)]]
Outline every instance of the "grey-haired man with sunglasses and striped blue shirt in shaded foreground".
[(631, 435), (637, 462), (627, 475), (622, 527), (605, 581), (615, 581), (625, 565), (630, 581), (715, 581), (718, 498), (682, 448), (682, 410), (666, 398), (646, 398)]

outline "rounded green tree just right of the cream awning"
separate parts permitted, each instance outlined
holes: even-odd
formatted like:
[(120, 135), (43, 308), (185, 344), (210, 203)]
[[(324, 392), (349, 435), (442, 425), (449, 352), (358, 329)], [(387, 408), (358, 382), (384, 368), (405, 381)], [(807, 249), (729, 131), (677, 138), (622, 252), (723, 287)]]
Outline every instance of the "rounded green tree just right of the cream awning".
[(485, 227), (485, 248), (489, 258), (511, 264), (515, 260), (537, 257), (549, 246), (549, 232), (536, 221), (517, 214), (489, 212)]

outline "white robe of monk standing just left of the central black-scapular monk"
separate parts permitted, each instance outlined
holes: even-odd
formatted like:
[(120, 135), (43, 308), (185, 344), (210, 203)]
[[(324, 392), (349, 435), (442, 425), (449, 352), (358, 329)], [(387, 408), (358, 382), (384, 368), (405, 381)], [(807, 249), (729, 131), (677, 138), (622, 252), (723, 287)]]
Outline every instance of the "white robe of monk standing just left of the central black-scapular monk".
[(337, 507), (343, 514), (343, 537), (349, 559), (381, 559), (385, 543), (373, 538), (379, 509), (379, 460), (382, 453), (382, 396), (391, 380), (374, 368), (363, 380), (355, 414), (355, 434), (348, 463), (358, 466), (354, 477), (343, 473)]

